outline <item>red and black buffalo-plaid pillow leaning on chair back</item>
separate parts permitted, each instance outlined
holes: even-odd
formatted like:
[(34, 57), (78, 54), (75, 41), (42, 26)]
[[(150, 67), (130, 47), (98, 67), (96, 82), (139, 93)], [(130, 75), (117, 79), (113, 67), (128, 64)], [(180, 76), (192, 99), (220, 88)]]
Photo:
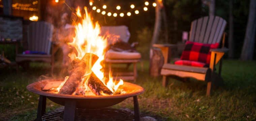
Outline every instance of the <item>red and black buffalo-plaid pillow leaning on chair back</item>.
[(211, 52), (210, 49), (218, 48), (219, 44), (203, 44), (187, 41), (184, 51), (181, 55), (181, 60), (191, 60), (210, 64)]

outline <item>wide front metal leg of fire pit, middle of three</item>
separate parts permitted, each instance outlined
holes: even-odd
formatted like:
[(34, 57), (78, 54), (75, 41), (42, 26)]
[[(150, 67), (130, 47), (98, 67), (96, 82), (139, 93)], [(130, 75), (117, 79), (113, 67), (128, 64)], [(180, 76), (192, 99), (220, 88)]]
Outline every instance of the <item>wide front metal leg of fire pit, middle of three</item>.
[(64, 109), (64, 121), (75, 121), (76, 116), (76, 101), (66, 100)]

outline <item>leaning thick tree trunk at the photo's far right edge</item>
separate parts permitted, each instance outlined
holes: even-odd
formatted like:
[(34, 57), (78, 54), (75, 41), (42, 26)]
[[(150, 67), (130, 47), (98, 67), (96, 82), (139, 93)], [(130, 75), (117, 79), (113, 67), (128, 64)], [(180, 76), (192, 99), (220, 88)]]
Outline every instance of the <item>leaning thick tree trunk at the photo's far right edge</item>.
[(251, 0), (244, 45), (241, 53), (242, 60), (252, 60), (256, 31), (256, 0)]

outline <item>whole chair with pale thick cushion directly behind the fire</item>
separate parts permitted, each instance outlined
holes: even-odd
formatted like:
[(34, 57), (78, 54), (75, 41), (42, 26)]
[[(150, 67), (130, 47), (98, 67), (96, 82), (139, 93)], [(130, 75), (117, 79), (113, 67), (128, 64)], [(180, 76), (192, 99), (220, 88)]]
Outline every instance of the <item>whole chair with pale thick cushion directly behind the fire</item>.
[[(126, 43), (128, 43), (130, 38), (130, 32), (128, 30), (128, 27), (126, 26), (103, 26), (101, 28), (101, 33), (105, 34), (106, 32), (109, 32), (109, 34), (120, 36), (119, 40)], [(113, 40), (111, 40), (110, 38), (108, 41), (111, 43), (111, 41)], [(132, 46), (133, 45), (134, 43), (132, 44)], [(113, 69), (111, 68), (112, 64), (127, 64), (127, 68), (130, 64), (133, 64), (133, 72), (114, 72), (113, 76), (116, 80), (134, 80), (135, 82), (137, 77), (136, 63), (138, 62), (141, 62), (141, 55), (138, 52), (118, 52), (108, 50), (105, 54), (105, 63), (108, 64), (109, 72), (113, 72)], [(104, 75), (107, 76), (108, 73), (104, 73)]]

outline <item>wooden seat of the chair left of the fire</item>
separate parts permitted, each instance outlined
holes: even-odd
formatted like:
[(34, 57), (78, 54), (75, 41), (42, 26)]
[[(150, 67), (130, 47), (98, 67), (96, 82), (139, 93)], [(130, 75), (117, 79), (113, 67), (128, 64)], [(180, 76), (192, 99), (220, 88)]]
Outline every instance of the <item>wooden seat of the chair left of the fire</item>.
[(52, 55), (42, 55), (42, 54), (17, 54), (16, 62), (22, 61), (43, 61), (43, 62), (52, 62)]

